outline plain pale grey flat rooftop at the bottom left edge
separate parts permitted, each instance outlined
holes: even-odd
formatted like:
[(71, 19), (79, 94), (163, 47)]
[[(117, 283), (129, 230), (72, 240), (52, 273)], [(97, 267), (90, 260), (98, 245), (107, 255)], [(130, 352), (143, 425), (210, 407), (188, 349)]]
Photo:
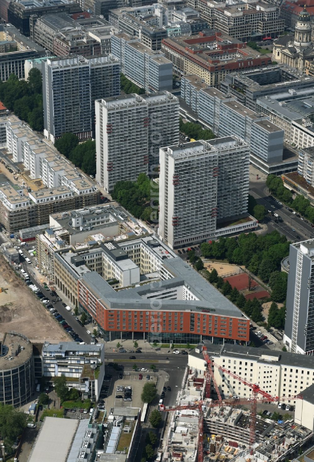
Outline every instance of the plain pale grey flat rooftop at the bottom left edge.
[(46, 417), (28, 462), (66, 462), (78, 424), (76, 419)]

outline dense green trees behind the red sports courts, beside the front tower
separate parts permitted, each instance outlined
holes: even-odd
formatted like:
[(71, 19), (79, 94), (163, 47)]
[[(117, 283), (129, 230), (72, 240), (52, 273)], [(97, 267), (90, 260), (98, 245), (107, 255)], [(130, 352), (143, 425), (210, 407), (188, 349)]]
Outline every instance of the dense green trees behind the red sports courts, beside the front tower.
[(200, 249), (205, 258), (226, 259), (229, 263), (244, 265), (262, 281), (268, 282), (271, 274), (280, 269), (281, 260), (289, 254), (289, 242), (278, 231), (259, 236), (251, 232), (202, 243)]

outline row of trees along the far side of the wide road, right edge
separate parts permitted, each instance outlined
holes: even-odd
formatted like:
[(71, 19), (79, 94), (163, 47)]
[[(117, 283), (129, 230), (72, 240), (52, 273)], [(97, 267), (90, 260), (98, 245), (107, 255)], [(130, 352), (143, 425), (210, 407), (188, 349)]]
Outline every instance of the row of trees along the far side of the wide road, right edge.
[(296, 195), (296, 198), (293, 199), (291, 191), (284, 187), (284, 182), (278, 176), (268, 175), (266, 185), (278, 199), (301, 213), (311, 223), (314, 223), (314, 207), (311, 206), (308, 199), (305, 199), (302, 195)]

